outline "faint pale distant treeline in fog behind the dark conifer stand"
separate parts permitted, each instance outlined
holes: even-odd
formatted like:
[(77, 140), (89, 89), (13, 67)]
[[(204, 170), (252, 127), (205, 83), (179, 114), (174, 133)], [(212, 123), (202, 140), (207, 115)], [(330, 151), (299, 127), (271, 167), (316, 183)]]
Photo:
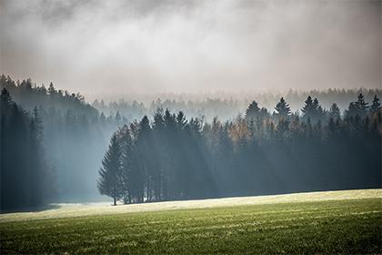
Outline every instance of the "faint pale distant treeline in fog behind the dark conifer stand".
[[(294, 112), (301, 108), (301, 103), (308, 96), (320, 98), (320, 105), (323, 109), (329, 109), (333, 102), (341, 109), (348, 107), (349, 103), (362, 93), (367, 100), (372, 100), (375, 95), (382, 97), (381, 89), (337, 89), (329, 88), (327, 90), (297, 91), (289, 90), (285, 94), (291, 110)], [(126, 101), (121, 99), (117, 102), (105, 103), (104, 100), (95, 99), (92, 106), (108, 115), (115, 116), (117, 112), (127, 119), (139, 119), (144, 115), (151, 116), (157, 108), (168, 108), (171, 112), (183, 111), (188, 117), (203, 117), (211, 122), (214, 117), (219, 117), (221, 121), (233, 120), (238, 113), (244, 113), (243, 110), (250, 104), (248, 98), (258, 98), (257, 103), (263, 107), (272, 108), (281, 93), (247, 93), (245, 95), (163, 95), (163, 98), (157, 98), (150, 101), (149, 98), (141, 98), (143, 101)], [(185, 100), (186, 98), (186, 100)], [(144, 103), (145, 102), (145, 103)]]

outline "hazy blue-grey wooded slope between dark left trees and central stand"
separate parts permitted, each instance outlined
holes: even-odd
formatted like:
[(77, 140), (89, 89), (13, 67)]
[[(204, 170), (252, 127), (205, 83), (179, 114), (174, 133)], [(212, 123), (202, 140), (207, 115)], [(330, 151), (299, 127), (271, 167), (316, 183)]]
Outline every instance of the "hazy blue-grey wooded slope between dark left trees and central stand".
[[(25, 111), (33, 113), (35, 108), (38, 111), (44, 124), (42, 139), (46, 158), (55, 168), (55, 200), (102, 199), (95, 187), (97, 173), (94, 169), (99, 165), (111, 134), (126, 119), (118, 115), (106, 117), (85, 103), (78, 93), (57, 90), (52, 83), (46, 89), (34, 85), (30, 79), (15, 82), (3, 75), (0, 88), (5, 88)], [(5, 136), (16, 136), (17, 128), (10, 124)], [(2, 147), (5, 147), (3, 141)]]

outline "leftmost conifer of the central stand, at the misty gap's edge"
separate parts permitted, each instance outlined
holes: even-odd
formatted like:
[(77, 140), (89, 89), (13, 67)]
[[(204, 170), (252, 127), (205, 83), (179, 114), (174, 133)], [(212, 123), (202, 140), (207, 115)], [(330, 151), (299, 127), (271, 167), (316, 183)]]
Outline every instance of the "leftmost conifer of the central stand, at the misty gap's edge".
[(102, 195), (106, 195), (116, 200), (122, 197), (121, 187), (121, 156), (122, 151), (116, 134), (110, 140), (109, 148), (106, 151), (104, 160), (102, 160), (102, 168), (99, 169), (100, 175), (97, 180), (97, 187)]

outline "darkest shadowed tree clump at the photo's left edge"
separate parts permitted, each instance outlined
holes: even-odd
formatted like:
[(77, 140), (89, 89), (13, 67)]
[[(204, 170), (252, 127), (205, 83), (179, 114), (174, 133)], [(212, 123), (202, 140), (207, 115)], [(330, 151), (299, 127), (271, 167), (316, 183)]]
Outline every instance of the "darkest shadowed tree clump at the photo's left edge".
[(36, 207), (54, 198), (54, 172), (45, 159), (43, 123), (3, 88), (0, 96), (0, 211)]

